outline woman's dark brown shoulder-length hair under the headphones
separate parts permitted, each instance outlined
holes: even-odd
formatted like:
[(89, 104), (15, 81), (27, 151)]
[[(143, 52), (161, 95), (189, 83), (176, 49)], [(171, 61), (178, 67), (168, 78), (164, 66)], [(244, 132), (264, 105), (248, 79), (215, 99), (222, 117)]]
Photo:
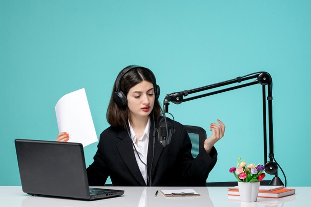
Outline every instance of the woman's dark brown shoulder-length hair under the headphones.
[[(144, 80), (151, 82), (155, 88), (156, 83), (154, 82), (155, 81), (154, 78), (155, 78), (154, 75), (151, 74), (151, 72), (148, 71), (147, 69), (139, 68), (139, 67), (131, 69), (128, 72), (126, 72), (122, 80), (120, 80), (121, 82), (120, 82), (119, 90), (123, 91), (123, 93), (127, 95), (129, 90), (133, 86), (137, 85), (138, 83), (141, 83)], [(107, 109), (107, 121), (112, 127), (123, 127), (124, 129), (126, 129), (126, 122), (129, 118), (129, 108), (126, 106), (125, 109), (121, 109), (113, 99), (113, 94), (116, 91), (116, 81), (117, 79), (114, 82), (109, 106)], [(154, 104), (154, 108), (149, 116), (154, 116), (156, 120), (160, 116), (161, 113), (162, 113), (162, 109), (160, 107), (159, 101), (156, 100)]]

